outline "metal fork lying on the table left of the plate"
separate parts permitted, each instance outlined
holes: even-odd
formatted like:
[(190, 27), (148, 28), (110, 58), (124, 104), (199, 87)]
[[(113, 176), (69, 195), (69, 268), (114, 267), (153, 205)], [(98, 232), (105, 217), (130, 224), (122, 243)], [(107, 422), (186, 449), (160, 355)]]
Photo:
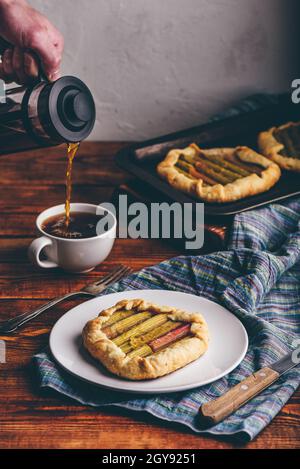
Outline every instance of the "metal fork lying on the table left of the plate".
[(49, 301), (49, 303), (40, 306), (38, 309), (32, 311), (31, 313), (23, 313), (15, 318), (1, 322), (0, 333), (8, 334), (14, 332), (15, 330), (19, 329), (19, 327), (23, 326), (23, 324), (26, 324), (27, 322), (42, 314), (44, 311), (47, 311), (47, 309), (66, 299), (81, 295), (93, 298), (99, 293), (103, 292), (103, 290), (105, 290), (109, 285), (114, 282), (117, 282), (118, 280), (121, 280), (121, 278), (125, 277), (126, 275), (129, 275), (130, 273), (132, 273), (132, 269), (124, 265), (120, 265), (113, 269), (111, 272), (109, 272), (107, 275), (102, 277), (101, 280), (98, 280), (94, 283), (89, 283), (84, 288), (82, 288), (82, 290), (67, 293), (66, 295), (60, 296), (59, 298), (54, 298), (53, 300)]

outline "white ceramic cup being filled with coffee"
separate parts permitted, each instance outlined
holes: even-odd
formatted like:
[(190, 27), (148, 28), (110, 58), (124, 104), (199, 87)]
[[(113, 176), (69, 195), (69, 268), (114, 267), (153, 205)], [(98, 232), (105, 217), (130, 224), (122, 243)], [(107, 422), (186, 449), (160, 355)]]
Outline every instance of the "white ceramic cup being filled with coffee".
[[(43, 269), (60, 267), (63, 270), (73, 273), (82, 273), (93, 270), (101, 264), (109, 255), (115, 238), (117, 220), (115, 215), (101, 205), (72, 203), (71, 212), (85, 212), (94, 214), (104, 214), (108, 218), (108, 229), (92, 238), (59, 238), (46, 233), (43, 222), (48, 218), (63, 214), (64, 205), (44, 210), (36, 219), (36, 227), (42, 235), (35, 239), (28, 248), (28, 255), (31, 262)], [(41, 254), (46, 259), (41, 259)]]

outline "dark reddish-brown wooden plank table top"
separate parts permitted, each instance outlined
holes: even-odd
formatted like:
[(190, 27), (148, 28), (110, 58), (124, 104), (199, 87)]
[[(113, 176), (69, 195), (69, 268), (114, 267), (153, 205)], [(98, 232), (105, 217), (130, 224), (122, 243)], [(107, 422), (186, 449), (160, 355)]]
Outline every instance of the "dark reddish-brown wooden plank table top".
[[(114, 165), (120, 143), (84, 143), (74, 166), (73, 201), (100, 203), (128, 176)], [(1, 319), (83, 287), (114, 265), (135, 270), (176, 254), (166, 242), (117, 240), (109, 259), (86, 275), (36, 271), (26, 249), (37, 214), (64, 201), (64, 147), (0, 156)], [(75, 302), (49, 311), (5, 339), (7, 362), (0, 364), (0, 448), (232, 448), (241, 443), (195, 435), (178, 425), (120, 409), (85, 407), (41, 393), (31, 357), (43, 348), (55, 321)], [(299, 447), (300, 393), (247, 448)]]

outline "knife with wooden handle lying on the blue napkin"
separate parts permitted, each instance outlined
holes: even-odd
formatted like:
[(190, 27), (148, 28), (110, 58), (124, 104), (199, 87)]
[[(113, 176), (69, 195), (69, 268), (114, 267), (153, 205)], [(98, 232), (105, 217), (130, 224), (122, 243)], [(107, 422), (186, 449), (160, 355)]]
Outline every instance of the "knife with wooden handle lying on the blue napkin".
[(206, 402), (199, 410), (202, 423), (213, 426), (221, 422), (261, 391), (268, 388), (283, 373), (297, 366), (299, 362), (299, 351), (298, 356), (297, 351), (293, 351), (272, 365), (248, 376), (223, 396)]

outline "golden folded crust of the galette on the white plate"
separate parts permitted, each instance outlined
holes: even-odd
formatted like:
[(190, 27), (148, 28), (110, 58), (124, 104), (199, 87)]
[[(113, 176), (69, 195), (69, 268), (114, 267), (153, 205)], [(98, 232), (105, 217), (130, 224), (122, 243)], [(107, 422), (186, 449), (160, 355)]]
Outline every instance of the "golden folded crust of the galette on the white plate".
[[(108, 319), (118, 310), (166, 314), (169, 320), (191, 323), (192, 337), (186, 337), (146, 357), (128, 357), (103, 332)], [(83, 329), (83, 344), (89, 353), (112, 373), (132, 380), (153, 379), (171, 373), (199, 358), (208, 348), (208, 328), (200, 313), (158, 306), (141, 299), (122, 300), (102, 311)]]

